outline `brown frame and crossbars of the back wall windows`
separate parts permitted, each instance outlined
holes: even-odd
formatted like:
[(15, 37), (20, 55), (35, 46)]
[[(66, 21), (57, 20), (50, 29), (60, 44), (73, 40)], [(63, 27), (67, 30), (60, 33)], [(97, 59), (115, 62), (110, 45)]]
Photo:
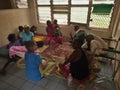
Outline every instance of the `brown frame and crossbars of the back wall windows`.
[[(37, 0), (36, 0), (36, 2), (37, 2)], [(91, 9), (93, 7), (92, 0), (89, 0), (88, 4), (82, 4), (82, 5), (81, 4), (71, 4), (71, 2), (72, 2), (72, 0), (68, 0), (68, 5), (58, 5), (58, 4), (53, 5), (53, 0), (50, 0), (50, 5), (37, 5), (37, 3), (36, 3), (36, 8), (38, 8), (39, 6), (43, 6), (43, 7), (50, 6), (50, 8), (51, 8), (51, 20), (54, 19), (54, 14), (67, 14), (67, 17), (68, 17), (67, 25), (79, 24), (79, 25), (83, 25), (87, 28), (94, 28), (94, 27), (90, 27), (90, 21), (91, 21), (90, 15), (91, 15)], [(68, 11), (66, 11), (66, 12), (65, 11), (54, 11), (54, 8), (56, 9), (56, 7), (57, 7), (57, 9), (61, 9), (61, 7), (62, 7), (61, 10), (64, 10), (66, 7), (67, 8), (66, 10), (68, 10)], [(71, 21), (71, 14), (70, 14), (71, 7), (88, 7), (87, 22), (86, 23), (72, 22)], [(38, 14), (38, 10), (37, 10), (37, 14)], [(38, 15), (38, 18), (39, 18), (39, 15)], [(111, 20), (112, 20), (112, 16), (111, 16)], [(39, 19), (38, 19), (38, 23), (44, 24), (44, 23), (40, 23)], [(110, 26), (110, 23), (109, 23), (109, 26)], [(109, 26), (108, 26), (108, 28), (103, 28), (103, 29), (109, 29)]]

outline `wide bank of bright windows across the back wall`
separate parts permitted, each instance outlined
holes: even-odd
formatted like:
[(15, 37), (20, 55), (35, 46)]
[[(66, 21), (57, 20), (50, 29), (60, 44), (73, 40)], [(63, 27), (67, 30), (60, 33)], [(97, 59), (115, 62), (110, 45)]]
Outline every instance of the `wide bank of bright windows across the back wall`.
[(95, 5), (103, 3), (113, 5), (114, 0), (37, 0), (39, 22), (57, 19), (59, 24), (64, 25), (79, 23), (89, 27), (108, 28), (111, 14), (95, 16), (93, 13)]

